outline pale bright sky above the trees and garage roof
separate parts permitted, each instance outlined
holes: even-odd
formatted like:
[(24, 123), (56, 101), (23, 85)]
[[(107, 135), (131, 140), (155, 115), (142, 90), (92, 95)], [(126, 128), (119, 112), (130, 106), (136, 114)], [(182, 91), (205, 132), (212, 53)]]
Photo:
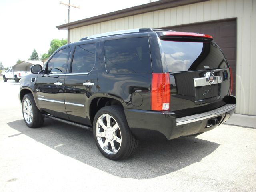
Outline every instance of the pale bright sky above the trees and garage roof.
[[(156, 1), (156, 0), (154, 0)], [(66, 39), (67, 30), (56, 26), (68, 21), (68, 0), (1, 0), (0, 62), (13, 66), (18, 59), (28, 60), (33, 50), (47, 53), (52, 39)], [(70, 22), (121, 10), (149, 0), (70, 0), (80, 6), (70, 9)]]

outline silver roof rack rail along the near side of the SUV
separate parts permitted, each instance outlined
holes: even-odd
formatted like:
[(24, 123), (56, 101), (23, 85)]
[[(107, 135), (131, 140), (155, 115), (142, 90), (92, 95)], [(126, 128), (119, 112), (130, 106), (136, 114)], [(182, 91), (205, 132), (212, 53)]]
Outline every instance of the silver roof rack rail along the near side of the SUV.
[(111, 35), (120, 35), (120, 34), (126, 34), (126, 33), (136, 33), (136, 32), (153, 32), (153, 30), (150, 28), (141, 28), (141, 29), (128, 29), (128, 30), (112, 31), (112, 32), (107, 32), (107, 33), (91, 35), (91, 36), (80, 39), (80, 41), (87, 40), (87, 39), (99, 38), (99, 37), (106, 37), (106, 36), (111, 36)]

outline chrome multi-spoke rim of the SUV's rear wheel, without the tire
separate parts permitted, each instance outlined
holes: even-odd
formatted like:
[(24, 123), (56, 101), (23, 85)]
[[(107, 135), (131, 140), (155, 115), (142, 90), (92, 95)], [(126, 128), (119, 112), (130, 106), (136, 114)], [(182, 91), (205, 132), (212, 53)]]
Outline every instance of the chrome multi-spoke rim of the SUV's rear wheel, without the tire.
[(109, 114), (101, 115), (96, 122), (98, 144), (107, 154), (116, 154), (122, 143), (120, 128)]

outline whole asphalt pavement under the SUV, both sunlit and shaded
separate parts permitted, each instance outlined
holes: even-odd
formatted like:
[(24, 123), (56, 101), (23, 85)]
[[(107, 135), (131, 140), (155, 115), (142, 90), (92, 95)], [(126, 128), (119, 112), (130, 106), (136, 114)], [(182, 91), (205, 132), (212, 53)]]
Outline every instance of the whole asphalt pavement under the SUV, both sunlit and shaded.
[(22, 118), (19, 84), (0, 82), (0, 192), (256, 191), (256, 129), (224, 124), (196, 138), (140, 141), (128, 160), (98, 151), (92, 132)]

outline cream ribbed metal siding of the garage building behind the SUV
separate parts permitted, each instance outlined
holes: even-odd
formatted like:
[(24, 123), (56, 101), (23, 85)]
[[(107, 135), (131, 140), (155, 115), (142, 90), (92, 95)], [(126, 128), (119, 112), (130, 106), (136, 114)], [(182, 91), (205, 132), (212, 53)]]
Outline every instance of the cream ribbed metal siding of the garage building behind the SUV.
[[(129, 28), (162, 28), (227, 18), (237, 18), (236, 112), (256, 115), (256, 52), (253, 47), (256, 44), (256, 0), (211, 0), (119, 18), (100, 23), (100, 33)], [(70, 42), (99, 32), (98, 24), (80, 28), (81, 32), (78, 32), (78, 28), (70, 30)]]

